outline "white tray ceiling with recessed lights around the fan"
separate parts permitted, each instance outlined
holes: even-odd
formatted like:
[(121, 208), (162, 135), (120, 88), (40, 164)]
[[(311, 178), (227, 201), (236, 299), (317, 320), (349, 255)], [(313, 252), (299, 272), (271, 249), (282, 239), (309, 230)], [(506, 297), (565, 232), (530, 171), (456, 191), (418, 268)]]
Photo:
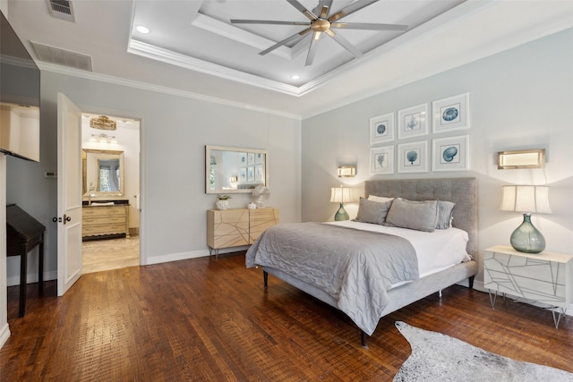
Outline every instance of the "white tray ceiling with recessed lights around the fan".
[[(299, 3), (319, 13), (319, 0)], [(333, 0), (331, 8), (352, 3)], [(343, 20), (406, 24), (406, 31), (337, 29), (363, 55), (355, 58), (333, 38), (322, 36), (314, 62), (306, 66), (310, 34), (302, 42), (259, 55), (304, 27), (230, 22), (308, 22), (286, 0), (70, 4), (72, 21), (52, 15), (48, 1), (8, 0), (8, 20), (43, 70), (106, 76), (106, 81), (148, 84), (150, 89), (303, 117), (573, 26), (569, 1), (380, 0)], [(139, 32), (138, 26), (150, 33)], [(57, 56), (81, 60), (65, 64)], [(83, 65), (66, 69), (76, 61)]]

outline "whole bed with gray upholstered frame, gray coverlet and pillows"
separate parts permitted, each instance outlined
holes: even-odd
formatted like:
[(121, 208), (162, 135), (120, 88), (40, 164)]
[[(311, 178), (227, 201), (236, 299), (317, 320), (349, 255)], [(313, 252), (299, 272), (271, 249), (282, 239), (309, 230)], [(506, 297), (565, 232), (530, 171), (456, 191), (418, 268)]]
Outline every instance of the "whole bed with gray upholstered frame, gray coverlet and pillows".
[[(364, 183), (364, 191), (357, 216), (360, 222), (277, 225), (253, 243), (245, 262), (247, 267), (262, 268), (265, 288), (270, 274), (344, 311), (361, 329), (366, 346), (367, 336), (372, 335), (381, 317), (466, 279), (473, 287), (477, 273), (477, 192), (474, 178), (373, 180)], [(448, 205), (455, 207), (446, 210), (450, 214), (447, 222), (443, 223), (446, 215), (438, 216), (446, 225), (441, 228), (447, 229), (426, 229), (423, 214), (435, 208), (433, 213), (440, 215), (444, 212), (440, 206)], [(375, 216), (386, 218), (383, 222), (372, 222), (373, 217), (368, 216), (371, 209), (365, 209), (372, 206), (387, 208), (386, 215), (374, 208)], [(413, 215), (403, 217), (408, 214)], [(364, 216), (368, 223), (363, 223)], [(415, 225), (414, 229), (404, 228), (401, 219), (406, 219), (405, 225)], [(384, 228), (397, 222), (398, 227)], [(416, 242), (410, 233), (423, 241)], [(450, 233), (457, 238), (450, 239)], [(455, 256), (450, 264), (432, 268), (432, 261), (417, 258), (418, 251), (436, 248), (424, 241), (440, 240), (434, 237), (442, 234), (458, 247), (464, 240), (463, 255), (459, 248), (456, 255), (463, 259)], [(384, 245), (379, 240), (384, 240)], [(437, 243), (440, 248), (444, 246)], [(441, 259), (439, 251), (435, 250), (436, 259)], [(430, 250), (423, 256), (432, 258), (432, 253)]]

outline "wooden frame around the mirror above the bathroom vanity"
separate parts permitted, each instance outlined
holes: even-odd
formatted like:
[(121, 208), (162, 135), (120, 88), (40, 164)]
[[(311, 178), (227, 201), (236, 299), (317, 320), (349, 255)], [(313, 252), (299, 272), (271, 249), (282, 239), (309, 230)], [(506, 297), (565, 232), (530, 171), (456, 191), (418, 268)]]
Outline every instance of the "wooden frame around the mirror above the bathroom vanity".
[[(91, 154), (91, 156), (90, 156)], [(90, 192), (88, 187), (88, 166), (95, 166), (97, 168), (100, 159), (110, 159), (117, 156), (119, 159), (119, 191), (101, 192), (97, 191), (98, 185), (95, 190)], [(93, 159), (93, 163), (90, 162)], [(117, 197), (124, 196), (125, 194), (125, 164), (124, 164), (124, 151), (120, 150), (102, 150), (102, 149), (81, 149), (81, 188), (84, 197)], [(97, 174), (97, 170), (94, 170)], [(94, 182), (95, 183), (95, 182)], [(99, 178), (97, 180), (99, 184)]]

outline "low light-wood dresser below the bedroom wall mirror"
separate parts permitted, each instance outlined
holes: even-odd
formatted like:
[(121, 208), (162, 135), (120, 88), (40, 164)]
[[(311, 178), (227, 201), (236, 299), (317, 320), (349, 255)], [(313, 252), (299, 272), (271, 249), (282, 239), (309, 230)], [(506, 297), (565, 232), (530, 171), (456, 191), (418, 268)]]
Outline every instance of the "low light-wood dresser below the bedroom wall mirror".
[(278, 224), (278, 208), (232, 208), (207, 211), (207, 245), (220, 248), (252, 244), (269, 226)]

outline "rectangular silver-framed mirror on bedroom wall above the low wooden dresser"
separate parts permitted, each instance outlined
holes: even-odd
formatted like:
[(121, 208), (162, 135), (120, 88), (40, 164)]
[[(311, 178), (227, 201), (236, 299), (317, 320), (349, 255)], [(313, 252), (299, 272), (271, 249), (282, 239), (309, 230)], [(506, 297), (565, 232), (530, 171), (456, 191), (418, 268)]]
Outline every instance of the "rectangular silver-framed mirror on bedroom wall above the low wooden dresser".
[(269, 152), (261, 149), (205, 146), (205, 192), (251, 193), (269, 187)]

